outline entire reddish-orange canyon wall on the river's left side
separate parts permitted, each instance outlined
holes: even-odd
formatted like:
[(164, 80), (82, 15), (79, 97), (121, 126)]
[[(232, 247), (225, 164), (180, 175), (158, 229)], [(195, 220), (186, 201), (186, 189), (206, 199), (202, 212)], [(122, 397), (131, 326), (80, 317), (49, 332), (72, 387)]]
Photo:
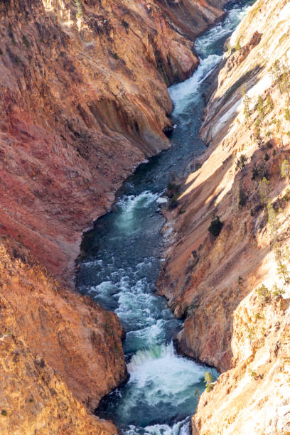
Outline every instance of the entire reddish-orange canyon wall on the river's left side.
[(167, 86), (224, 3), (0, 2), (2, 433), (117, 433), (90, 412), (126, 380), (122, 327), (73, 291), (75, 258), (124, 178), (168, 148)]

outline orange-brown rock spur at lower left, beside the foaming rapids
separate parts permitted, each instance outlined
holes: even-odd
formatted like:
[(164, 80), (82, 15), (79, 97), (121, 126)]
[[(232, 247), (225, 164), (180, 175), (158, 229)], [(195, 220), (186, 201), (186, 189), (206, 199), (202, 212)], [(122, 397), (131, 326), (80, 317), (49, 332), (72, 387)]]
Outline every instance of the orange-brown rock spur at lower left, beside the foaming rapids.
[(1, 237), (0, 259), (1, 432), (115, 433), (81, 402), (95, 409), (127, 378), (119, 319), (60, 287), (20, 243)]

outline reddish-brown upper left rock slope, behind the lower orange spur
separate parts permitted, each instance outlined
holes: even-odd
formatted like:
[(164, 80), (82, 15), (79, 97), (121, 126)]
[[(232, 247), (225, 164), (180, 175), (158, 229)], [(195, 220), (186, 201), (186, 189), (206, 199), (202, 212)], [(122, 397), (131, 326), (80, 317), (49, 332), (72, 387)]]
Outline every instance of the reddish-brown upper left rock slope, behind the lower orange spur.
[[(214, 3), (182, 3), (193, 33)], [(72, 279), (82, 231), (169, 146), (166, 85), (198, 65), (172, 17), (158, 1), (1, 1), (0, 230), (54, 276)]]

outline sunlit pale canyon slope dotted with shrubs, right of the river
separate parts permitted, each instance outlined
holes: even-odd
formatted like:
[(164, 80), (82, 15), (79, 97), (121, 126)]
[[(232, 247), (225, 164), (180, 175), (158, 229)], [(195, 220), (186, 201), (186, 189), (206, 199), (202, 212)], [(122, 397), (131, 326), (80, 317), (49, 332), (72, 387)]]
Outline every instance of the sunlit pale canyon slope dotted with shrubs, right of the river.
[(222, 372), (193, 434), (290, 430), (289, 16), (258, 0), (233, 34), (200, 130), (209, 149), (168, 214), (159, 291), (186, 318), (178, 348)]

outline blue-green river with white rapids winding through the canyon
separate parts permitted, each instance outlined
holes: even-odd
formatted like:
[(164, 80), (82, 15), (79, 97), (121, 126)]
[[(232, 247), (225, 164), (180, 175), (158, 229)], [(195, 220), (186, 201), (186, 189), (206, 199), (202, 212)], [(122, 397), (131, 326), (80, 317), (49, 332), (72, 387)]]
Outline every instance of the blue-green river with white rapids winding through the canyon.
[[(205, 389), (205, 372), (215, 369), (176, 355), (172, 338), (182, 322), (154, 294), (162, 264), (164, 219), (160, 198), (173, 176), (205, 147), (198, 137), (206, 77), (222, 58), (225, 40), (254, 1), (227, 6), (227, 17), (195, 41), (198, 70), (169, 89), (174, 103), (172, 147), (137, 168), (117, 195), (112, 212), (97, 220), (82, 242), (77, 285), (115, 311), (127, 332), (124, 353), (129, 381), (102, 401), (97, 413), (112, 419), (122, 434), (190, 434), (190, 416)], [(174, 174), (174, 175), (173, 175)]]

